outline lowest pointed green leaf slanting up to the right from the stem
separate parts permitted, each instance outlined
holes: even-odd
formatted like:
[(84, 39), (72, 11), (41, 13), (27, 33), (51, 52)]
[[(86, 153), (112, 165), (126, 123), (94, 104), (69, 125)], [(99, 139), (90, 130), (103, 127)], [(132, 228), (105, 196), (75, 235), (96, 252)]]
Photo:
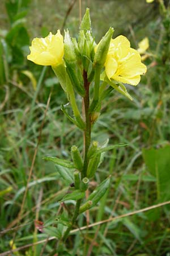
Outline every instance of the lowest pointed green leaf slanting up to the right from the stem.
[(107, 192), (110, 179), (111, 177), (109, 176), (99, 185), (99, 187), (95, 189), (94, 192), (91, 193), (86, 202), (80, 207), (79, 213), (82, 213), (85, 210), (94, 207), (100, 201), (101, 197), (103, 197), (105, 192)]

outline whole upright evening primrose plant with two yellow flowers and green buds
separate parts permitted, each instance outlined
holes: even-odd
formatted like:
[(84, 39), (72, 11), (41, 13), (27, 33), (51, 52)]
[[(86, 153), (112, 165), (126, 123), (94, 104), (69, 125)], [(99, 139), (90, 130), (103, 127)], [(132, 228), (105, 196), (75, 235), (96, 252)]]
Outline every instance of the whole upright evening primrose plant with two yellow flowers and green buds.
[[(56, 237), (61, 241), (69, 236), (78, 215), (94, 207), (109, 187), (110, 176), (97, 185), (87, 198), (85, 196), (90, 180), (103, 161), (105, 151), (125, 146), (91, 142), (91, 130), (100, 115), (103, 100), (113, 90), (132, 100), (124, 84), (137, 85), (141, 75), (146, 72), (139, 52), (130, 47), (125, 36), (112, 39), (113, 32), (113, 28), (109, 28), (96, 44), (87, 9), (80, 25), (78, 40), (71, 38), (68, 30), (65, 31), (64, 39), (59, 30), (56, 35), (50, 32), (46, 38), (33, 39), (31, 53), (28, 55), (28, 60), (36, 64), (52, 66), (73, 109), (73, 116), (67, 113), (66, 106), (62, 105), (61, 110), (84, 135), (83, 152), (75, 145), (71, 147), (72, 161), (54, 156), (44, 157), (55, 163), (59, 175), (70, 183), (69, 193), (61, 202), (76, 201), (72, 217), (57, 216)], [(82, 111), (78, 107), (77, 96), (82, 98)]]

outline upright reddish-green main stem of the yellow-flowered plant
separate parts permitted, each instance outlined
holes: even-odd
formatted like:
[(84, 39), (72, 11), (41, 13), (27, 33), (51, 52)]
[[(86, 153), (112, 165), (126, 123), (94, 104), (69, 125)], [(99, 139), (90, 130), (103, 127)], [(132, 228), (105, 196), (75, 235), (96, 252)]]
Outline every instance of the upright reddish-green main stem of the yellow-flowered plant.
[[(90, 82), (87, 80), (87, 72), (83, 71), (83, 79), (84, 79), (84, 89), (86, 90), (86, 95), (83, 97), (84, 101), (84, 112), (86, 117), (86, 128), (84, 129), (84, 162), (83, 162), (83, 170), (82, 170), (82, 179), (83, 177), (86, 177), (87, 175), (87, 167), (88, 167), (88, 149), (90, 147), (91, 143), (91, 114), (89, 113), (89, 105), (90, 105), (90, 99), (89, 99), (89, 86)], [(80, 204), (82, 202), (82, 199), (79, 199), (76, 201), (75, 210), (73, 217), (71, 219), (71, 225), (66, 229), (62, 241), (66, 241), (67, 237), (69, 236), (70, 230), (72, 229), (76, 218), (79, 215), (79, 208)]]

